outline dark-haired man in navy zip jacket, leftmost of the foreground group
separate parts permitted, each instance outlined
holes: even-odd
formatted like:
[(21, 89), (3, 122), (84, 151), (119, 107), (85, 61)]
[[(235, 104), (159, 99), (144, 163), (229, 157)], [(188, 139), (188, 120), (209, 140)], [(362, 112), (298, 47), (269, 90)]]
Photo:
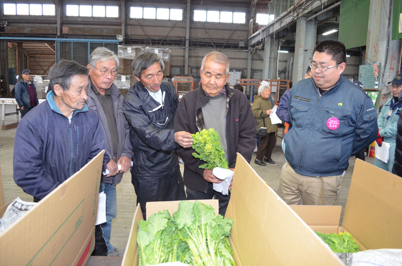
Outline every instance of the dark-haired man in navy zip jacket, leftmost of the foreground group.
[[(14, 181), (35, 202), (106, 150), (99, 116), (85, 104), (86, 67), (63, 60), (49, 78), (47, 100), (21, 119), (14, 144)], [(105, 153), (104, 170), (109, 160)]]

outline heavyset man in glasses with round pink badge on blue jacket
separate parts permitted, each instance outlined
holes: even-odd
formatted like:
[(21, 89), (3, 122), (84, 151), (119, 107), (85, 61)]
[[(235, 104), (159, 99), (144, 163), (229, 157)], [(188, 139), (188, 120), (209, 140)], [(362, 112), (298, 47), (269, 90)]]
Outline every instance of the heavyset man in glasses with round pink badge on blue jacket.
[(332, 205), (349, 157), (377, 137), (377, 113), (370, 97), (342, 75), (343, 43), (317, 44), (310, 67), (312, 78), (290, 90), (292, 128), (284, 137), (278, 195), (287, 204)]

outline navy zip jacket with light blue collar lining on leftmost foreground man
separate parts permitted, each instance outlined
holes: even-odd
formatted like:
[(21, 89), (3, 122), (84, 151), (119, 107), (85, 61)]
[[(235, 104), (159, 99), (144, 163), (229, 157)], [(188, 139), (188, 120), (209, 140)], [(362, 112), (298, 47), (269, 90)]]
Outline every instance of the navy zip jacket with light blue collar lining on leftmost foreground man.
[(88, 107), (69, 119), (53, 100), (39, 104), (21, 119), (14, 144), (14, 181), (26, 193), (42, 199), (100, 151), (103, 171), (110, 157), (99, 116)]

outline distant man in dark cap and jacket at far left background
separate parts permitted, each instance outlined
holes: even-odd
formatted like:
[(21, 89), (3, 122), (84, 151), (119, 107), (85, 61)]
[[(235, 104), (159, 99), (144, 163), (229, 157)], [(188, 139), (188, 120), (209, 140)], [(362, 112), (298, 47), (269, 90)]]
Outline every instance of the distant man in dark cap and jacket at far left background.
[(15, 87), (15, 97), (20, 106), (21, 118), (39, 104), (38, 95), (33, 82), (31, 82), (31, 71), (24, 69), (22, 71), (22, 79), (17, 82)]

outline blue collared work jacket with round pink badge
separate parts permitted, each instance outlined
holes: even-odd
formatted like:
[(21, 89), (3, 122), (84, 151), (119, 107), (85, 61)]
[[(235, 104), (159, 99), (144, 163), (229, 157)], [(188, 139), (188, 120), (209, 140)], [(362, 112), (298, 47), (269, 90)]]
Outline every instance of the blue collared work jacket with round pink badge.
[(340, 175), (349, 157), (377, 137), (372, 100), (343, 75), (322, 95), (313, 79), (297, 82), (288, 113), (292, 128), (284, 137), (285, 158), (301, 175)]

